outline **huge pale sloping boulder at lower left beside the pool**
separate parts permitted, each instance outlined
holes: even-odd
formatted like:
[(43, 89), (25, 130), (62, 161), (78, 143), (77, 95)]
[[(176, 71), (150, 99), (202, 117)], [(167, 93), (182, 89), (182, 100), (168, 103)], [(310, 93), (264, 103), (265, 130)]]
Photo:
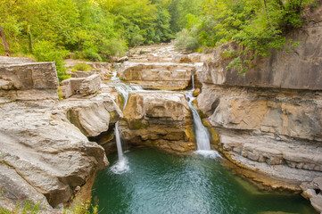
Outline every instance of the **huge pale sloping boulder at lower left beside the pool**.
[[(52, 102), (6, 103), (0, 115), (1, 161), (53, 207), (68, 202), (73, 188), (108, 164), (103, 148), (89, 142)], [(25, 194), (24, 184), (16, 186), (17, 201), (23, 200), (18, 196)], [(11, 191), (5, 188), (4, 194)]]

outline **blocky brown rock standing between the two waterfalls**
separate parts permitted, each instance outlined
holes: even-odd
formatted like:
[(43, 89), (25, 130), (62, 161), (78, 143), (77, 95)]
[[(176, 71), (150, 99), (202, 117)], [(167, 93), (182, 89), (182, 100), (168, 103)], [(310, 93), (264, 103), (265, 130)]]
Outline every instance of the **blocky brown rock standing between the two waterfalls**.
[(120, 122), (120, 132), (129, 143), (169, 152), (195, 150), (192, 128), (186, 97), (178, 93), (134, 93)]

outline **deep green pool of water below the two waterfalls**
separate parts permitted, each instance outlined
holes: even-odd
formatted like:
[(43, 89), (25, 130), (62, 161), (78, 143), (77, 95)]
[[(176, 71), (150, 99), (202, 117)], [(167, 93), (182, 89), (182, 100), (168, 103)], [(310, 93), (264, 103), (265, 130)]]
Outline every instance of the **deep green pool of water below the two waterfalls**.
[[(260, 192), (219, 160), (182, 157), (150, 148), (125, 154), (129, 171), (100, 171), (93, 196), (100, 213), (316, 213), (300, 195)], [(109, 157), (111, 166), (117, 154)]]

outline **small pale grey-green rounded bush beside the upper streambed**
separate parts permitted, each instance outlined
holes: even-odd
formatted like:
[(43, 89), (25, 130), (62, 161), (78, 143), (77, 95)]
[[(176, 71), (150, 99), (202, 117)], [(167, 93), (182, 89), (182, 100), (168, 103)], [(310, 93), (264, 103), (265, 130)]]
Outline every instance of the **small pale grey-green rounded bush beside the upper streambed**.
[(191, 36), (187, 29), (183, 29), (177, 34), (177, 42), (175, 46), (178, 50), (195, 51), (198, 49), (198, 40)]

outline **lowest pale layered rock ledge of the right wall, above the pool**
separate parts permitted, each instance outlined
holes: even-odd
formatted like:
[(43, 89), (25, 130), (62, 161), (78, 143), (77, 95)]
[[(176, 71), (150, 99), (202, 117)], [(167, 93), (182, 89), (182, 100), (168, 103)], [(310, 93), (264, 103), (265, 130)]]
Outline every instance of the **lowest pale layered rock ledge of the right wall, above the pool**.
[(236, 160), (247, 158), (271, 167), (287, 166), (290, 169), (316, 171), (322, 175), (322, 148), (316, 145), (291, 144), (264, 136), (221, 135), (220, 141), (225, 152)]

